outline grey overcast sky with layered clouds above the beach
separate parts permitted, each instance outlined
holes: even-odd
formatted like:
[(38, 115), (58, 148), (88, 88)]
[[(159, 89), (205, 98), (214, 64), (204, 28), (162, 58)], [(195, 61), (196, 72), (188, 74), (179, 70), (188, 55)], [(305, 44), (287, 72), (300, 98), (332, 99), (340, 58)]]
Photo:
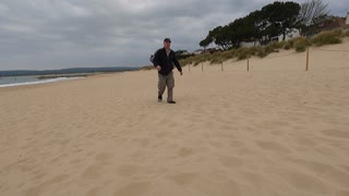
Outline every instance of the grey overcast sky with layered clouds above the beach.
[[(272, 0), (1, 0), (0, 70), (149, 64), (165, 37), (194, 51), (209, 29)], [(303, 0), (296, 0), (303, 2)], [(349, 0), (323, 0), (345, 16)]]

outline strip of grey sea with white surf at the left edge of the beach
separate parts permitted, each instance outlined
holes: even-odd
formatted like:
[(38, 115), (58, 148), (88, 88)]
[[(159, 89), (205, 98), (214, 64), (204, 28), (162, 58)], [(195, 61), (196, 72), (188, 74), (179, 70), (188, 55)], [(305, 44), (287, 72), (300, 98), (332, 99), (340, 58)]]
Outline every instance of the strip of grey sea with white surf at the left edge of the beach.
[(38, 79), (35, 76), (5, 76), (0, 77), (0, 87), (21, 86), (21, 85), (34, 85), (43, 83), (52, 83), (58, 81), (71, 81), (82, 77), (58, 77), (49, 79)]

